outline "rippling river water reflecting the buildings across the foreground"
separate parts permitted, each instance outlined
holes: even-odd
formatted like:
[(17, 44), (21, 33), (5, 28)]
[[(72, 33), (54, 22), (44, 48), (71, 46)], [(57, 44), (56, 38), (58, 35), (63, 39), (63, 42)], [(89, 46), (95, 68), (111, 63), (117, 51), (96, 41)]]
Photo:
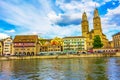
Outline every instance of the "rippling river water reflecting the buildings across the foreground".
[(0, 61), (0, 80), (120, 80), (120, 58)]

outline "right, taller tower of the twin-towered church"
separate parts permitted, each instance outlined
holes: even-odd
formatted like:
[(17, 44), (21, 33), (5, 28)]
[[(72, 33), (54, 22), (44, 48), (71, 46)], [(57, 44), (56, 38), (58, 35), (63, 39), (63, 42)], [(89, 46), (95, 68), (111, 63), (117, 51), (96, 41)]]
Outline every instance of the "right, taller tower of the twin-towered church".
[(102, 35), (101, 19), (97, 8), (94, 10), (93, 27), (95, 35)]

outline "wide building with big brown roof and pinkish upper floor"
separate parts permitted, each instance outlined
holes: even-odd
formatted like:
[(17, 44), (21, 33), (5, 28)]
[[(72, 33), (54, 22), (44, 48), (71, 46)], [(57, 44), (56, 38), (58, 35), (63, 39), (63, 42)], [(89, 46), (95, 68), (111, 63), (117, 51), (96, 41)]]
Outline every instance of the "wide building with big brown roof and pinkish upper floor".
[(17, 35), (13, 40), (14, 55), (36, 55), (39, 52), (37, 35)]

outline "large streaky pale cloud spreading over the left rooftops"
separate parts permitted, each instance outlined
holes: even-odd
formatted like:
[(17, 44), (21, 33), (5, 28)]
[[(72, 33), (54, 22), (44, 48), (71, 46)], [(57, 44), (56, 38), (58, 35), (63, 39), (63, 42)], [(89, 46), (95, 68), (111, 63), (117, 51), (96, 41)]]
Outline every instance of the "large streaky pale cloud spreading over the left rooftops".
[(52, 10), (47, 1), (39, 0), (39, 4), (42, 4), (39, 6), (39, 9), (36, 8), (35, 5), (33, 6), (32, 3), (28, 4), (24, 1), (23, 3), (21, 3), (21, 5), (17, 3), (18, 5), (15, 5), (11, 2), (1, 1), (2, 14), (4, 14), (2, 20), (16, 25), (16, 34), (41, 33), (44, 37), (54, 37), (80, 33), (79, 26), (70, 25), (69, 27), (63, 28), (53, 24), (51, 19), (59, 19), (59, 16), (55, 17), (54, 15), (49, 14), (50, 12), (53, 12), (56, 15), (55, 11)]

